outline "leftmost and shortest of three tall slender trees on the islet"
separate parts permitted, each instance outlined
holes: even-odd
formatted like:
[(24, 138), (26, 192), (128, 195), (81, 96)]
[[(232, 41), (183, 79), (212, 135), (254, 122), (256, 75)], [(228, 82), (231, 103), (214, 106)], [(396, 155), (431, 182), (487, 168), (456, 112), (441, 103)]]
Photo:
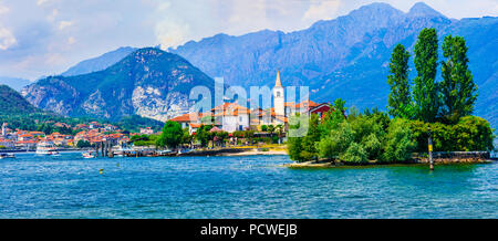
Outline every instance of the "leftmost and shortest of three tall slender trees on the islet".
[(391, 75), (387, 76), (387, 84), (391, 86), (387, 99), (388, 113), (394, 117), (412, 118), (414, 115), (408, 81), (408, 51), (403, 44), (397, 44), (391, 56)]

